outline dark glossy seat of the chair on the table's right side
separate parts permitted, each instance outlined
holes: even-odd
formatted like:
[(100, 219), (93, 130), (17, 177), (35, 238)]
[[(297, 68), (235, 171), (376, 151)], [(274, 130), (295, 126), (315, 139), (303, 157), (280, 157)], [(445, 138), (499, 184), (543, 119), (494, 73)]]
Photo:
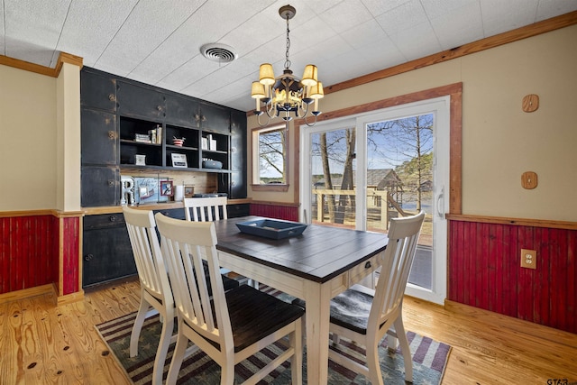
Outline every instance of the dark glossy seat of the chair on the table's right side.
[[(371, 313), (374, 290), (361, 285), (353, 285), (331, 299), (331, 323), (353, 330), (361, 335), (367, 334), (367, 323)], [(304, 300), (297, 298), (293, 305), (305, 307)]]

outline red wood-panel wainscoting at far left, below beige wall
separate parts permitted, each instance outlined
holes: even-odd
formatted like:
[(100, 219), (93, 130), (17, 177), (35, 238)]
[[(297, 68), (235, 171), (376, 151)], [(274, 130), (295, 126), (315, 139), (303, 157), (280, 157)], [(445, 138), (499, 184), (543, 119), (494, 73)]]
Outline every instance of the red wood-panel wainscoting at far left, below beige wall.
[(58, 280), (55, 220), (52, 215), (0, 217), (0, 294)]

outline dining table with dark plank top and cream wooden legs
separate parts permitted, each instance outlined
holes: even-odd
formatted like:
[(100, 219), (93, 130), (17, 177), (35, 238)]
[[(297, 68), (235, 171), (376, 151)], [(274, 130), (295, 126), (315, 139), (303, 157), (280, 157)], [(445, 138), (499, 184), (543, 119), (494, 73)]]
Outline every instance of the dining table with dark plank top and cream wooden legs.
[(323, 225), (281, 240), (240, 233), (245, 216), (215, 222), (221, 265), (307, 301), (307, 380), (325, 384), (330, 300), (381, 265), (388, 238)]

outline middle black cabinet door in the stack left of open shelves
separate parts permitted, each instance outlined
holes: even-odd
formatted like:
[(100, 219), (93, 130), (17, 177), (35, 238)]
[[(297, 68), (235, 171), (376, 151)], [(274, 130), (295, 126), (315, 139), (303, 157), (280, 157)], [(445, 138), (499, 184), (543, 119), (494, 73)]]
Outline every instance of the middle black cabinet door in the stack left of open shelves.
[(118, 163), (116, 115), (82, 108), (80, 112), (82, 164)]

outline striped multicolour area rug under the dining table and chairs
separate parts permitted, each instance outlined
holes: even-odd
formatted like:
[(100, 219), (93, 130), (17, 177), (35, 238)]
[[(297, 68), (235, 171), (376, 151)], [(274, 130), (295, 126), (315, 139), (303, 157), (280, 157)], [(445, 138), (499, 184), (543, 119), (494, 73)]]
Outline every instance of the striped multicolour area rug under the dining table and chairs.
[[(286, 294), (279, 293), (274, 289), (262, 288), (269, 291), (279, 298), (290, 300)], [(105, 343), (110, 347), (114, 356), (121, 363), (128, 377), (133, 380), (134, 384), (150, 384), (152, 377), (152, 365), (154, 356), (158, 347), (160, 338), (160, 320), (159, 316), (151, 316), (144, 322), (139, 342), (139, 354), (130, 358), (129, 344), (130, 334), (132, 331), (136, 313), (121, 316), (104, 324), (96, 325), (100, 335)], [(176, 323), (175, 323), (176, 325)], [(451, 347), (434, 341), (430, 338), (416, 335), (408, 332), (408, 342), (411, 347), (413, 356), (413, 383), (435, 385), (441, 383)], [(328, 344), (328, 338), (327, 338)], [(164, 365), (164, 379), (169, 371), (170, 359), (174, 350), (174, 345), (169, 347), (169, 353)], [(338, 349), (353, 357), (359, 357), (362, 360), (363, 350), (356, 344), (345, 339), (341, 343), (330, 345), (331, 349)], [(261, 352), (254, 354), (247, 360), (237, 364), (234, 368), (234, 383), (241, 383), (249, 378), (252, 372), (263, 367), (270, 362), (271, 357), (275, 357), (282, 352), (281, 344), (272, 345), (263, 349)], [(387, 349), (387, 339), (383, 339), (379, 348), (380, 368), (383, 374), (383, 380), (387, 384), (405, 384), (405, 365), (400, 349), (395, 352), (389, 352)], [(307, 362), (306, 356), (304, 362)], [(307, 383), (307, 367), (305, 364), (304, 378)], [(329, 360), (328, 370), (329, 384), (368, 384), (367, 378), (353, 371), (349, 371), (343, 366)], [(196, 384), (209, 385), (220, 383), (220, 367), (212, 361), (205, 353), (192, 353), (182, 364), (179, 373), (179, 384)], [(259, 382), (260, 385), (284, 385), (290, 384), (290, 364), (285, 362), (283, 366), (272, 371), (269, 376)]]

